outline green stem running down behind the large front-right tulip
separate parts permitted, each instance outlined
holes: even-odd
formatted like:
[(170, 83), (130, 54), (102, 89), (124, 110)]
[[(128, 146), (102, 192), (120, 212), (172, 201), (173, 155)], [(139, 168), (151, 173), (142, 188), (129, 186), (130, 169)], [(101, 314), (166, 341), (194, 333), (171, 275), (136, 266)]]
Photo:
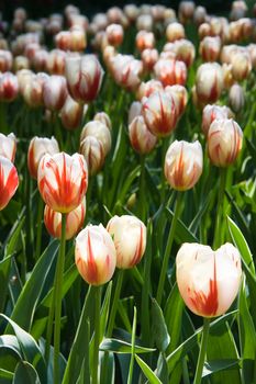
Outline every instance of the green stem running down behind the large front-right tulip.
[(216, 249), (222, 244), (222, 234), (221, 234), (221, 224), (223, 219), (223, 203), (225, 196), (225, 184), (226, 184), (226, 168), (220, 169), (220, 188), (219, 188), (219, 197), (216, 206), (216, 221), (214, 229), (214, 240), (213, 248)]

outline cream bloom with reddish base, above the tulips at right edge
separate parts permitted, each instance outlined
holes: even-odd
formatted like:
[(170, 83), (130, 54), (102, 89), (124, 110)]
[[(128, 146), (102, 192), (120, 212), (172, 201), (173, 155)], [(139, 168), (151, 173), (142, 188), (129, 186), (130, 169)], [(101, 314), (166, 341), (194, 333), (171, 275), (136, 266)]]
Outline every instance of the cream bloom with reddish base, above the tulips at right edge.
[(203, 103), (214, 103), (223, 89), (223, 72), (218, 63), (202, 64), (196, 77), (197, 95)]

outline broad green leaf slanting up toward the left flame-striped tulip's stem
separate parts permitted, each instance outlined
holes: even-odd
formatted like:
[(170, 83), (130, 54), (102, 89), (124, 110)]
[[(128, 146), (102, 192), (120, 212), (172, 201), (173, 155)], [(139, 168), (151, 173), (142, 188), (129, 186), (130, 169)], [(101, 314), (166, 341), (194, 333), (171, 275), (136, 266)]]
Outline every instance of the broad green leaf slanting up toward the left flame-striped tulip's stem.
[(40, 300), (47, 274), (58, 251), (58, 241), (54, 240), (45, 249), (26, 281), (11, 315), (13, 321), (30, 330), (34, 312)]

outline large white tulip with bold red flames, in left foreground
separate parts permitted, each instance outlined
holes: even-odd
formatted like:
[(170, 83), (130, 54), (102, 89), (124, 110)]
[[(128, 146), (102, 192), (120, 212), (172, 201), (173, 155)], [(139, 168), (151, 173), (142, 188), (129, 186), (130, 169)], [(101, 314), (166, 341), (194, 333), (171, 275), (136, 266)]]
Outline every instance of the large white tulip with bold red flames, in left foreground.
[(88, 169), (81, 155), (46, 154), (37, 170), (40, 193), (52, 210), (74, 211), (84, 199), (88, 187)]

